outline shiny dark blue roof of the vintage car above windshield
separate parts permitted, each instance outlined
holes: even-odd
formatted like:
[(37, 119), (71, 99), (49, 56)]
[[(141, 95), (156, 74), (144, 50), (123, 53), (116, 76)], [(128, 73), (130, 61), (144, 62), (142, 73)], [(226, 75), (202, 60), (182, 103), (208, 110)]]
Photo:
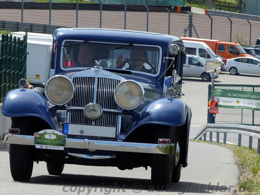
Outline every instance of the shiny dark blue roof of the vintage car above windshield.
[(119, 43), (137, 43), (149, 45), (169, 46), (169, 43), (179, 42), (183, 45), (182, 40), (176, 36), (170, 36), (160, 33), (105, 29), (105, 28), (58, 28), (54, 31), (54, 38), (59, 39), (83, 39), (96, 41), (113, 41)]

